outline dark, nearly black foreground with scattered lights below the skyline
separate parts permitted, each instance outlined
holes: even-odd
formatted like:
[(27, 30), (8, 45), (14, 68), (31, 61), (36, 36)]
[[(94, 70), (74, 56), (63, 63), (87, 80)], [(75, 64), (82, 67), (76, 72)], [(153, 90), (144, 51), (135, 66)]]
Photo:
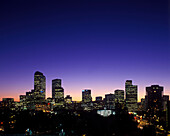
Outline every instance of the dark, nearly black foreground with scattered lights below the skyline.
[[(1, 135), (23, 136), (29, 128), (32, 135), (59, 136), (156, 136), (154, 127), (137, 128), (133, 115), (126, 113), (102, 117), (96, 111), (60, 110), (1, 111), (4, 131)], [(2, 126), (2, 124), (1, 124)]]

